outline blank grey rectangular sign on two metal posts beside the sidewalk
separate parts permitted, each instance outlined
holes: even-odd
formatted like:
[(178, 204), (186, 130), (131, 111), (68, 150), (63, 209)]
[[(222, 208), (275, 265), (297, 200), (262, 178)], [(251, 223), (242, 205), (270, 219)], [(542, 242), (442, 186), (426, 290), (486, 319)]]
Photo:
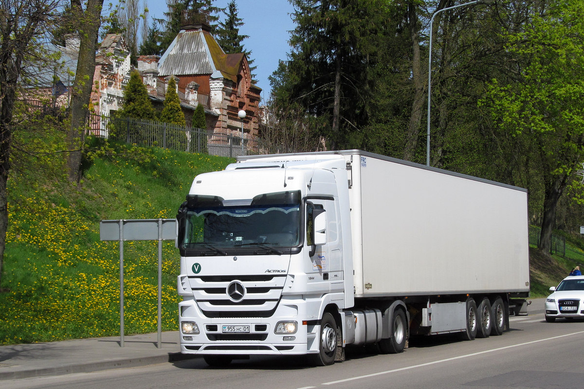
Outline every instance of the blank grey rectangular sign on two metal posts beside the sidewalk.
[(100, 240), (120, 242), (120, 346), (124, 346), (124, 241), (158, 240), (158, 348), (162, 348), (162, 241), (176, 239), (176, 219), (102, 220)]

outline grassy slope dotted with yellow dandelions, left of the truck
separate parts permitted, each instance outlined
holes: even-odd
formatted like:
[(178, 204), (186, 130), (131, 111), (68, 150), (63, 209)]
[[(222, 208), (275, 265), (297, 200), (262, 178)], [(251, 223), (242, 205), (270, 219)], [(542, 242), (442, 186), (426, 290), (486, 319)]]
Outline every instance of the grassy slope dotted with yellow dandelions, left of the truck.
[[(0, 344), (118, 335), (119, 243), (99, 240), (99, 221), (172, 219), (194, 176), (231, 162), (118, 147), (115, 155), (95, 159), (79, 185), (34, 171), (13, 177)], [(177, 330), (179, 254), (173, 241), (164, 242), (162, 257), (162, 328)], [(157, 330), (157, 297), (158, 242), (124, 242), (126, 334)]]

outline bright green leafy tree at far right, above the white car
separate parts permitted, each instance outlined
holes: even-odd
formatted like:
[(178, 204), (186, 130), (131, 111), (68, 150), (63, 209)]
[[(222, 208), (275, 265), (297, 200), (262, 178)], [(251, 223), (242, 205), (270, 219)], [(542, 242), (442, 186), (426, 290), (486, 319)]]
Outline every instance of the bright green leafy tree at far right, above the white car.
[(492, 80), (482, 101), (501, 131), (529, 145), (531, 183), (544, 193), (538, 249), (549, 255), (559, 199), (584, 159), (584, 3), (552, 0), (505, 34), (517, 79)]

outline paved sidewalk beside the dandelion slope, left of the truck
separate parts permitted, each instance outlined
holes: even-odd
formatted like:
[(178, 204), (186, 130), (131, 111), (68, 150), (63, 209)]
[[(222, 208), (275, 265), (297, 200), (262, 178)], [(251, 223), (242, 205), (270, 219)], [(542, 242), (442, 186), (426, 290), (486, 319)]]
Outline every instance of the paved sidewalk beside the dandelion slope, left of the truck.
[[(58, 374), (87, 373), (119, 367), (151, 365), (193, 358), (180, 353), (179, 332), (74, 339), (0, 346), (0, 381)], [(1, 384), (0, 384), (1, 386)]]

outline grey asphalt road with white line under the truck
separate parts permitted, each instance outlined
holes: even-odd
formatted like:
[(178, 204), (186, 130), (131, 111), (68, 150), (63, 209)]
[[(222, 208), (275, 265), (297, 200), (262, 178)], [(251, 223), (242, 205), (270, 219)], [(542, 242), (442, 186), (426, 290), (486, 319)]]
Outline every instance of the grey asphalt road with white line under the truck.
[(541, 307), (512, 318), (499, 337), (459, 341), (453, 336), (413, 338), (398, 355), (349, 349), (347, 360), (310, 367), (304, 358), (252, 357), (227, 369), (202, 359), (145, 367), (2, 381), (15, 388), (562, 388), (584, 387), (584, 321), (546, 323)]

